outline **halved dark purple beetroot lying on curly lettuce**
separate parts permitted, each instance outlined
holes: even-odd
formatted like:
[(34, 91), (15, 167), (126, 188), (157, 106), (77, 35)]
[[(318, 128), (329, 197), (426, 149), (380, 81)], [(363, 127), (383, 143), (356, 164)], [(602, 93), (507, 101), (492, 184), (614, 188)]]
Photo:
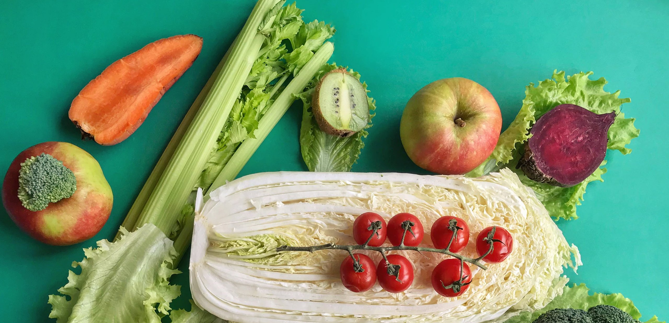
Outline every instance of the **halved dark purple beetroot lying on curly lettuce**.
[(560, 104), (532, 127), (518, 167), (540, 183), (577, 185), (604, 160), (613, 120), (615, 112), (595, 114), (575, 104)]

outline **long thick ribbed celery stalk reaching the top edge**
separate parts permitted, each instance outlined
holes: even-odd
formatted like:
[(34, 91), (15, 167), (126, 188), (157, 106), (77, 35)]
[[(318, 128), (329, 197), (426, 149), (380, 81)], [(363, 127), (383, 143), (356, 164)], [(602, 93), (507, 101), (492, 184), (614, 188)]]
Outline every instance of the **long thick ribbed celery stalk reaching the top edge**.
[(260, 0), (256, 3), (229, 51), (226, 64), (183, 134), (134, 227), (153, 223), (166, 234), (171, 232), (260, 51), (264, 41), (264, 35), (258, 32), (263, 27), (261, 24), (279, 2)]

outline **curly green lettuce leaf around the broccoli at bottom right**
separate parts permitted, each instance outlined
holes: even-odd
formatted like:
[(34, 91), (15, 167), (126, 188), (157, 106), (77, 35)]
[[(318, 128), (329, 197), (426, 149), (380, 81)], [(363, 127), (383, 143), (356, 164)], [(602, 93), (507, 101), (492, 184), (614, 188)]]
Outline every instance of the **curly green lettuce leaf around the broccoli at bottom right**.
[[(575, 308), (577, 310), (588, 310), (597, 305), (611, 305), (615, 306), (638, 320), (641, 318), (641, 313), (638, 308), (634, 306), (634, 302), (629, 298), (625, 298), (622, 294), (600, 294), (595, 293), (590, 295), (589, 289), (585, 284), (576, 285), (572, 287), (565, 286), (562, 295), (557, 296), (545, 308), (535, 312), (521, 312), (517, 316), (509, 318), (504, 323), (531, 323), (536, 320), (541, 314), (553, 310), (555, 308)], [(653, 316), (646, 323), (664, 323), (656, 316)]]

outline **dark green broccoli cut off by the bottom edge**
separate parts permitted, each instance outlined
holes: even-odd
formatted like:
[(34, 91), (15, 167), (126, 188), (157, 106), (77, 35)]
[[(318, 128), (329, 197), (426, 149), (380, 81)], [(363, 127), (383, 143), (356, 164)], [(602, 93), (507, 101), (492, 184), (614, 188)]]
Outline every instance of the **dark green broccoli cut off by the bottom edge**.
[(587, 312), (556, 308), (541, 314), (533, 323), (640, 323), (623, 310), (611, 305), (597, 305)]

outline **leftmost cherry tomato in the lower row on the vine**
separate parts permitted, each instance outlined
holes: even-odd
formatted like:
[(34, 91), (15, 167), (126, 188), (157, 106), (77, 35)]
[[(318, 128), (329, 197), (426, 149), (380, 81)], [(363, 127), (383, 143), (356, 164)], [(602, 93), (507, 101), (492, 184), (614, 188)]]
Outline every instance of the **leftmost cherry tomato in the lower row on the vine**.
[[(349, 255), (341, 262), (339, 276), (345, 288), (351, 292), (361, 293), (369, 290), (376, 283), (376, 267), (374, 261), (362, 253), (353, 253), (359, 265), (355, 265), (353, 258)], [(362, 270), (357, 272), (356, 270)]]

